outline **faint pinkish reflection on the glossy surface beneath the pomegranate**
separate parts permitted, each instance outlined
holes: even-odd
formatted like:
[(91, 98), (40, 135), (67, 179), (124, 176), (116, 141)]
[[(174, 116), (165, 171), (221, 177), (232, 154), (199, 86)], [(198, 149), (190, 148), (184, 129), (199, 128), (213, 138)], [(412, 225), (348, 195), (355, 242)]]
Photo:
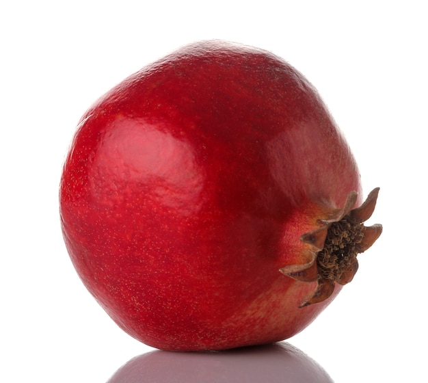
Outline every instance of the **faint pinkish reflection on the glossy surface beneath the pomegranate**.
[(129, 360), (108, 383), (332, 383), (317, 362), (288, 343), (222, 352), (154, 351)]

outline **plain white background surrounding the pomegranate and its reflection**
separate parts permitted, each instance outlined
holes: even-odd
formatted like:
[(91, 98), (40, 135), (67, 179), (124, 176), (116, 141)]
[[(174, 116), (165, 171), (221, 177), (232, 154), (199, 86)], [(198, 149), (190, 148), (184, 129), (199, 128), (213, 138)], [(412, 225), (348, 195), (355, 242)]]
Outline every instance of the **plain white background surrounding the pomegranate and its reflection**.
[(384, 224), (382, 237), (360, 255), (353, 282), (289, 342), (336, 382), (428, 382), (425, 7), (412, 0), (3, 2), (1, 380), (107, 382), (151, 350), (107, 317), (72, 268), (59, 229), (62, 162), (98, 96), (183, 44), (222, 38), (273, 51), (303, 72), (345, 133), (364, 193), (381, 187), (370, 222)]

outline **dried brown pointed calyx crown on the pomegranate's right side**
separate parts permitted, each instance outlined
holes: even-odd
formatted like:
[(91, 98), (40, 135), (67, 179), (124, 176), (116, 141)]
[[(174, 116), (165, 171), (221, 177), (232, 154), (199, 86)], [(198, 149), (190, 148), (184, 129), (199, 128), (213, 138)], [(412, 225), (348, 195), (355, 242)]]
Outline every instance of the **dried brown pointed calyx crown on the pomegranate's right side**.
[(335, 283), (346, 285), (351, 282), (358, 269), (357, 254), (375, 243), (382, 233), (382, 225), (364, 226), (376, 206), (379, 188), (374, 189), (358, 208), (358, 194), (347, 196), (343, 209), (334, 209), (327, 220), (319, 220), (320, 228), (302, 235), (304, 243), (310, 245), (310, 260), (304, 265), (291, 265), (280, 272), (303, 282), (317, 281), (317, 289), (306, 297), (300, 307), (319, 303), (332, 295)]

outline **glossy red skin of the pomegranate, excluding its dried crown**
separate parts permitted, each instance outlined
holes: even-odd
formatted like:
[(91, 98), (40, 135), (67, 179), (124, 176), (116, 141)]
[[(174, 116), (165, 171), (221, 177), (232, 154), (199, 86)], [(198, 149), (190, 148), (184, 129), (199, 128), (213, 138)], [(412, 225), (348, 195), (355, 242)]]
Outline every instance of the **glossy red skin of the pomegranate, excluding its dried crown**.
[(198, 42), (146, 66), (81, 119), (64, 165), (64, 239), (118, 325), (161, 349), (289, 338), (331, 300), (299, 237), (360, 192), (356, 162), (315, 88), (282, 59)]

